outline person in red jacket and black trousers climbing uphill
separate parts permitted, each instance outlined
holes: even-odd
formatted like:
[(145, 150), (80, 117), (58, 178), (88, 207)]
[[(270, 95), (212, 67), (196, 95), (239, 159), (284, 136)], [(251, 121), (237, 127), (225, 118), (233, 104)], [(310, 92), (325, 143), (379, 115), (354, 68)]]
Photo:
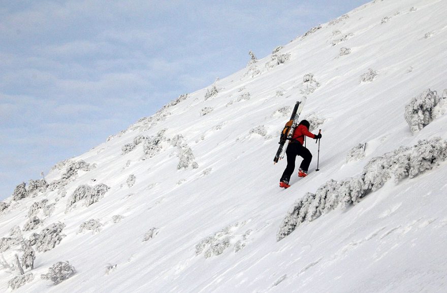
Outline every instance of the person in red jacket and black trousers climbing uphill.
[(287, 156), (287, 166), (282, 173), (281, 179), (279, 180), (279, 186), (282, 188), (288, 188), (290, 176), (292, 176), (295, 170), (295, 159), (297, 156), (303, 158), (300, 164), (300, 169), (298, 170), (299, 177), (306, 177), (307, 170), (309, 169), (310, 161), (312, 161), (312, 154), (308, 149), (305, 148), (304, 136), (310, 138), (318, 139), (321, 138), (321, 133), (313, 134), (309, 132), (309, 122), (307, 120), (302, 120), (300, 124), (295, 128), (292, 139), (285, 150), (285, 155)]

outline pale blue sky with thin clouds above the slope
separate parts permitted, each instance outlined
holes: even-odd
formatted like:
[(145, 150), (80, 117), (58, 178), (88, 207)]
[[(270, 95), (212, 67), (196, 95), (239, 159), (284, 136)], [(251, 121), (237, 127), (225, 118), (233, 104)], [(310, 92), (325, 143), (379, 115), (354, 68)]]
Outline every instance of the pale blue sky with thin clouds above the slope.
[(0, 199), (367, 2), (0, 0)]

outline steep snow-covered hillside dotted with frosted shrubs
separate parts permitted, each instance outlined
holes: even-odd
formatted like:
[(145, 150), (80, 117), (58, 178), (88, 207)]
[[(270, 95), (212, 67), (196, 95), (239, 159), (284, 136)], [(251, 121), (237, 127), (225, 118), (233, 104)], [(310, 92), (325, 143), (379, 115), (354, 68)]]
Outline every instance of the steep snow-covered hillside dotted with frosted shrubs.
[[(373, 1), (19, 185), (0, 288), (445, 291), (445, 15)], [(303, 96), (320, 171), (308, 139), (309, 175), (284, 190), (273, 157)]]

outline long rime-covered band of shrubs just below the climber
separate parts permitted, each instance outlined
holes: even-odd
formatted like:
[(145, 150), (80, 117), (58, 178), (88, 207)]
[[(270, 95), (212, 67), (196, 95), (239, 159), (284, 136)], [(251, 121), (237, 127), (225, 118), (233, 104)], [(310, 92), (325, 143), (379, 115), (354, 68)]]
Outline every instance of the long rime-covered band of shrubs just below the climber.
[(397, 182), (432, 169), (447, 159), (447, 141), (440, 137), (420, 140), (411, 148), (399, 149), (368, 162), (359, 176), (341, 181), (329, 180), (316, 193), (306, 193), (287, 212), (277, 240), (292, 233), (304, 221), (313, 221), (334, 208), (356, 204), (360, 198), (384, 186), (394, 177)]

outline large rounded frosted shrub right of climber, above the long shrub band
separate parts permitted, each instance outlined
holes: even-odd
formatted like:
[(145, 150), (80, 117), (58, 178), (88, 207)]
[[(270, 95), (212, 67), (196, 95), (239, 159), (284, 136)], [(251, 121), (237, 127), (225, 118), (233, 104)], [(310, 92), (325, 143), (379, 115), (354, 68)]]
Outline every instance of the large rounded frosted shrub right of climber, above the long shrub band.
[(432, 115), (438, 101), (437, 93), (428, 89), (419, 96), (412, 98), (405, 106), (405, 121), (410, 126), (412, 133), (419, 132), (433, 121)]

